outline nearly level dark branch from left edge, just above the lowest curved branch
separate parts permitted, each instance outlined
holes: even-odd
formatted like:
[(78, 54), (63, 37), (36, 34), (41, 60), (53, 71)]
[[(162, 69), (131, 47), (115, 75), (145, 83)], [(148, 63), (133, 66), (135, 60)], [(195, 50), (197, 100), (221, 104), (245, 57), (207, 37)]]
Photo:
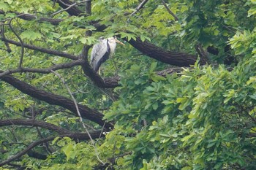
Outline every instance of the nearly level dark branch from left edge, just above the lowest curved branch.
[(52, 131), (56, 131), (59, 134), (69, 134), (72, 133), (67, 129), (61, 128), (57, 125), (53, 125), (51, 123), (46, 123), (39, 120), (23, 120), (23, 119), (8, 119), (8, 120), (0, 120), (0, 127), (4, 125), (33, 125), (39, 126), (41, 128), (47, 128)]

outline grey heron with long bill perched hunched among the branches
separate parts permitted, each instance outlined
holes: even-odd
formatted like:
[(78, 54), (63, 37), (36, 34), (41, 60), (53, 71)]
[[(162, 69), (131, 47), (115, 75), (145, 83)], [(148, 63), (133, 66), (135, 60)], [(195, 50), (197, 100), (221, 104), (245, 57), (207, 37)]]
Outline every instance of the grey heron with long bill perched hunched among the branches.
[(94, 69), (94, 72), (97, 72), (99, 70), (99, 66), (113, 55), (116, 49), (116, 42), (124, 45), (124, 43), (118, 41), (116, 37), (110, 37), (108, 39), (99, 39), (99, 43), (92, 47), (91, 66), (92, 69)]

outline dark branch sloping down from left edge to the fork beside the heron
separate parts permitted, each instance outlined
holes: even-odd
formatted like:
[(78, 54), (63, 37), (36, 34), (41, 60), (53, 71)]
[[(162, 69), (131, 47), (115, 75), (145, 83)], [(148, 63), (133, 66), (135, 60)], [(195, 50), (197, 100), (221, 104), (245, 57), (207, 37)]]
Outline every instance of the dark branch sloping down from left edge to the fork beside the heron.
[[(21, 46), (20, 42), (15, 42), (11, 39), (4, 39), (3, 37), (0, 37), (0, 40), (3, 41), (3, 42), (8, 42), (12, 45)], [(50, 49), (46, 49), (46, 48), (43, 48), (43, 47), (37, 47), (37, 46), (34, 46), (34, 45), (27, 45), (25, 43), (23, 44), (23, 46), (28, 48), (28, 49), (37, 50), (37, 51), (42, 52), (42, 53), (57, 55), (57, 56), (64, 57), (64, 58), (69, 58), (69, 59), (72, 59), (72, 60), (78, 60), (77, 56), (72, 55), (72, 54), (68, 54), (68, 53), (64, 53), (64, 52), (61, 52), (61, 51), (50, 50)]]

